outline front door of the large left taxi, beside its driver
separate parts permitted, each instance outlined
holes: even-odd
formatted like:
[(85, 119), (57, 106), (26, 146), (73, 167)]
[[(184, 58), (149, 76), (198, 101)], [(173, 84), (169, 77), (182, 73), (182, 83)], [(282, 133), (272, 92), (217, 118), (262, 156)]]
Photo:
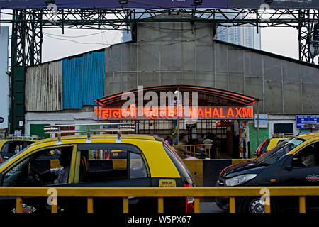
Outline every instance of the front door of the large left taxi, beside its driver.
[[(54, 167), (50, 165), (50, 160), (42, 160), (40, 157), (50, 154), (52, 150), (61, 153), (67, 153), (65, 157), (69, 166), (66, 182), (55, 182), (57, 176), (47, 174), (42, 175), (46, 170)], [(57, 145), (41, 148), (33, 151), (30, 155), (22, 157), (20, 160), (13, 161), (13, 165), (4, 170), (1, 175), (2, 187), (50, 187), (47, 197), (23, 197), (23, 213), (50, 213), (51, 204), (49, 197), (54, 196), (54, 189), (57, 187), (72, 187), (74, 179), (74, 163), (76, 149), (74, 145)], [(60, 167), (60, 166), (55, 166)], [(51, 197), (52, 198), (52, 197)], [(72, 204), (74, 199), (62, 198), (57, 194), (57, 210), (65, 211), (68, 204)], [(16, 213), (16, 198), (0, 197), (0, 210), (4, 213)]]

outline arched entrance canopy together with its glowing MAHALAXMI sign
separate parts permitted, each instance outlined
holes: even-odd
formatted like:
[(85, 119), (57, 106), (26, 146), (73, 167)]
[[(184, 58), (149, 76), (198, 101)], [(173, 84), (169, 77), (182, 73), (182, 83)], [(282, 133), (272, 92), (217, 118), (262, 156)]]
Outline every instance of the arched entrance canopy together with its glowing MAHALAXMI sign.
[(252, 104), (257, 103), (259, 99), (211, 87), (172, 85), (139, 87), (130, 92), (105, 96), (95, 101), (97, 106), (94, 113), (104, 120), (235, 120), (252, 119)]

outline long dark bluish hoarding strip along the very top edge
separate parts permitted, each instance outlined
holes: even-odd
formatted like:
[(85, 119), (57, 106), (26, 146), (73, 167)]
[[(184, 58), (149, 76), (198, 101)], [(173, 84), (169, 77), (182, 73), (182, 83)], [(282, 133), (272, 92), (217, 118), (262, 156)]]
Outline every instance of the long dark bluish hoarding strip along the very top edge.
[[(196, 1), (200, 2), (200, 1)], [(48, 4), (55, 4), (57, 9), (177, 9), (177, 8), (216, 8), (216, 9), (259, 9), (264, 0), (203, 0), (194, 4), (193, 0), (128, 0), (127, 4), (118, 0), (2, 0), (0, 9), (46, 9)], [(319, 0), (274, 0), (271, 9), (319, 9)]]

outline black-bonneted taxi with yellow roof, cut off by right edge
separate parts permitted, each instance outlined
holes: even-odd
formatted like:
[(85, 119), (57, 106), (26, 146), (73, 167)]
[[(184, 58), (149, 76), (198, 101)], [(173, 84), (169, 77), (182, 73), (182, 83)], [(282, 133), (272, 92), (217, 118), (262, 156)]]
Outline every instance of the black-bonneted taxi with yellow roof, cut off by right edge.
[[(319, 186), (319, 133), (306, 133), (285, 140), (256, 160), (226, 167), (218, 187)], [(228, 198), (216, 198), (221, 209), (229, 209)], [(236, 210), (263, 213), (261, 198), (236, 198)], [(319, 198), (306, 198), (306, 209), (319, 208)], [(272, 212), (298, 209), (297, 197), (271, 198)]]

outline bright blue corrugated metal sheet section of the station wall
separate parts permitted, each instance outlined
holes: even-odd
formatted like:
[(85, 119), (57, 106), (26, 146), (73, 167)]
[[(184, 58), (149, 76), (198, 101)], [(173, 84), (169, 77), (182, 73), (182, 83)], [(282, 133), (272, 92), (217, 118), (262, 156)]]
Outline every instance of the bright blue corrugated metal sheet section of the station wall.
[(104, 52), (89, 52), (63, 62), (63, 109), (95, 105), (104, 94)]

